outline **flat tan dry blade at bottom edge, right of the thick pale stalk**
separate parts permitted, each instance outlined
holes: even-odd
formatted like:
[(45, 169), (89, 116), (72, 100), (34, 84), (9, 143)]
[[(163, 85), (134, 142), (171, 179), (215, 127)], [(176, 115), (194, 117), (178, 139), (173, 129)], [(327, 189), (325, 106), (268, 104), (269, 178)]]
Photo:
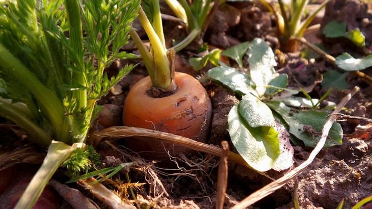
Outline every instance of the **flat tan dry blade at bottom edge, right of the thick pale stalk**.
[(109, 205), (114, 209), (134, 209), (133, 205), (125, 203), (115, 192), (107, 189), (100, 183), (92, 184), (92, 182), (97, 181), (95, 178), (86, 178), (84, 180), (77, 181), (79, 185), (83, 186), (89, 192), (94, 195), (97, 199), (103, 203)]

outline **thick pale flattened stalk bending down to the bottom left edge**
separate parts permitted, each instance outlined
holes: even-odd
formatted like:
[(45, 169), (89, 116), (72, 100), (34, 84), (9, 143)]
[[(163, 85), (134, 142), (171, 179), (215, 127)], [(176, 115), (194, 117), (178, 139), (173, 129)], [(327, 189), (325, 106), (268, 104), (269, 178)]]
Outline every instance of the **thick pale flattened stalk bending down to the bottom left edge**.
[(83, 143), (75, 143), (69, 146), (63, 142), (52, 141), (43, 164), (32, 178), (14, 208), (31, 209), (60, 165), (68, 159), (76, 148), (83, 146), (85, 146)]

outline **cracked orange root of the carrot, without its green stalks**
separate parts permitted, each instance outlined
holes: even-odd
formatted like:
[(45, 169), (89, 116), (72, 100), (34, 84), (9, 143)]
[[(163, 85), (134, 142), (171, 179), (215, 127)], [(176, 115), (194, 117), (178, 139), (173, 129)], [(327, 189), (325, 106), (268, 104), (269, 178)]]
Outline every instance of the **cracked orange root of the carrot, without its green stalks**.
[[(154, 98), (147, 93), (152, 85), (149, 76), (136, 83), (125, 100), (124, 125), (156, 129), (205, 142), (211, 120), (208, 94), (199, 81), (189, 74), (176, 72), (174, 81), (178, 87), (176, 92), (162, 98)], [(145, 139), (130, 141), (128, 148), (165, 152), (160, 142), (149, 143)], [(172, 155), (185, 152), (185, 148), (178, 146), (165, 145), (165, 148)]]

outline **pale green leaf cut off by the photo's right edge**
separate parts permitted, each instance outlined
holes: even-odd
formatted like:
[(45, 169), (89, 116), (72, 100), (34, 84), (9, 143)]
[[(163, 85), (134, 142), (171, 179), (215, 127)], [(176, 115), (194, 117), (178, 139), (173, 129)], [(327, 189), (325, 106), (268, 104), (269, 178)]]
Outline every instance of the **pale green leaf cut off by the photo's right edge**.
[(372, 66), (372, 55), (368, 55), (362, 59), (356, 59), (348, 53), (342, 53), (342, 55), (336, 58), (336, 65), (345, 71), (363, 70)]

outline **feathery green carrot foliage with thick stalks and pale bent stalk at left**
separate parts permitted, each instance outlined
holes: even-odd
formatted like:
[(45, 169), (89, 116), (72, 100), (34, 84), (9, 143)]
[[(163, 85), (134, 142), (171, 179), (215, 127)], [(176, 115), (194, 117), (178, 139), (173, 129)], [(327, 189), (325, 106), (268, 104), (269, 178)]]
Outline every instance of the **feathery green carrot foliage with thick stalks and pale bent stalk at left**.
[[(103, 71), (115, 59), (129, 56), (119, 49), (127, 43), (139, 3), (19, 0), (1, 4), (0, 116), (48, 148), (16, 205), (32, 208), (58, 167), (74, 150), (86, 148), (88, 129), (100, 110), (96, 100), (133, 68), (125, 66), (111, 79)], [(86, 170), (91, 161), (83, 160), (86, 163), (68, 165), (74, 171)]]

